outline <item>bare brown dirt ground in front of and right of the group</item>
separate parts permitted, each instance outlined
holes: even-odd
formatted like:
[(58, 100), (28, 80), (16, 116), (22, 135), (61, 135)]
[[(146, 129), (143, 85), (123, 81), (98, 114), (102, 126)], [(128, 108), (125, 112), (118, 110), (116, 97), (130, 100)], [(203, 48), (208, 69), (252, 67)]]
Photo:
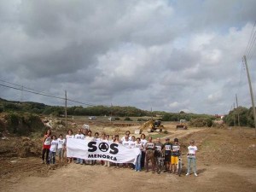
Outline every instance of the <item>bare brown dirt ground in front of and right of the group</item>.
[[(125, 128), (124, 128), (125, 129)], [(131, 128), (132, 129), (132, 128)], [(0, 191), (256, 191), (256, 139), (247, 128), (189, 128), (176, 131), (166, 125), (168, 136), (179, 138), (186, 153), (195, 139), (198, 177), (170, 173), (134, 172), (128, 168), (41, 164), (38, 157), (0, 154)], [(132, 135), (132, 134), (131, 134)], [(164, 139), (162, 139), (164, 141)], [(6, 141), (0, 141), (1, 148)], [(4, 154), (4, 155), (3, 155)]]

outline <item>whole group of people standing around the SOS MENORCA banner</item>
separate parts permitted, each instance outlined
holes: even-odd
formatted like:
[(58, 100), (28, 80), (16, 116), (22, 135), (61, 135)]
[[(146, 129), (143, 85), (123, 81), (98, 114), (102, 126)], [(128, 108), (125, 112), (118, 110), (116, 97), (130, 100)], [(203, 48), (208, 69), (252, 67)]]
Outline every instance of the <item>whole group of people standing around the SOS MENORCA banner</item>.
[[(149, 171), (149, 162), (151, 163), (152, 172), (161, 172), (160, 162), (163, 161), (164, 172), (177, 173), (178, 158), (181, 155), (181, 148), (178, 143), (178, 139), (174, 138), (173, 143), (171, 143), (170, 138), (166, 137), (166, 142), (161, 143), (160, 138), (156, 138), (156, 141), (152, 141), (152, 137), (148, 137), (141, 134), (140, 137), (130, 136), (131, 132), (126, 131), (125, 136), (119, 138), (119, 135), (113, 135), (110, 137), (106, 133), (102, 132), (101, 136), (98, 132), (92, 136), (92, 132), (87, 129), (79, 129), (77, 134), (73, 134), (72, 130), (67, 131), (66, 138), (62, 134), (57, 138), (55, 135), (51, 134), (51, 131), (46, 131), (43, 138), (43, 164), (55, 164), (55, 156), (59, 158), (59, 162), (67, 163), (75, 162), (80, 165), (96, 165), (101, 164), (102, 166), (115, 166), (119, 167), (129, 167), (136, 172), (141, 172), (145, 169), (145, 172)], [(136, 165), (131, 163), (112, 163), (107, 160), (83, 160), (79, 158), (65, 157), (66, 143), (69, 138), (83, 139), (87, 142), (90, 141), (101, 141), (105, 143), (119, 143), (126, 148), (139, 148), (140, 153), (137, 155)], [(188, 170), (186, 176), (190, 174), (190, 166), (193, 164), (193, 171), (195, 176), (196, 173), (196, 163), (195, 163), (195, 153), (197, 147), (195, 146), (195, 141), (192, 140), (188, 147)]]

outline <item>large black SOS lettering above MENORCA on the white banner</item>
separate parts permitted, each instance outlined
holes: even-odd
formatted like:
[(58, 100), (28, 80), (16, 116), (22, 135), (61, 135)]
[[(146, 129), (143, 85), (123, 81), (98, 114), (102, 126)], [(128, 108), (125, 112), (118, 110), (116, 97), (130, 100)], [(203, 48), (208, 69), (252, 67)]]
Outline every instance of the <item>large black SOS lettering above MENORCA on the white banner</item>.
[(108, 152), (108, 149), (110, 148), (110, 154), (117, 154), (119, 153), (118, 146), (117, 143), (111, 143), (109, 146), (108, 143), (100, 143), (99, 146), (97, 146), (96, 142), (90, 142), (88, 143), (88, 151), (95, 152), (97, 148), (99, 148), (102, 152)]

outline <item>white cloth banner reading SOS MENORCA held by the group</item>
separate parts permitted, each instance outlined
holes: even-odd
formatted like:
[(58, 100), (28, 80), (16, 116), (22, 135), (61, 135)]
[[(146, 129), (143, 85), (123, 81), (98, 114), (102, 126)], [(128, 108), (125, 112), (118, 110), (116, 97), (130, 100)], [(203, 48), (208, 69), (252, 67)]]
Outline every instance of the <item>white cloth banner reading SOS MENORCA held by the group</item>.
[(84, 160), (108, 160), (114, 163), (134, 163), (138, 154), (140, 154), (139, 148), (125, 148), (119, 143), (67, 139), (67, 157)]

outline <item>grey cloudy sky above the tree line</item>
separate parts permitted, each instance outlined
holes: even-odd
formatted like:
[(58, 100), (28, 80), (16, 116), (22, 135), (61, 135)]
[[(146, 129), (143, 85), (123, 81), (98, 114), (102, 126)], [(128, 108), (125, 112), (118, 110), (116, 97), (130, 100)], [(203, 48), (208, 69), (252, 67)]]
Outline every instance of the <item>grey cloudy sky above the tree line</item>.
[[(255, 8), (255, 0), (0, 0), (0, 84), (211, 114), (228, 113), (237, 94), (248, 108), (242, 56), (256, 95), (256, 43), (246, 51)], [(3, 86), (0, 97), (64, 104)]]

